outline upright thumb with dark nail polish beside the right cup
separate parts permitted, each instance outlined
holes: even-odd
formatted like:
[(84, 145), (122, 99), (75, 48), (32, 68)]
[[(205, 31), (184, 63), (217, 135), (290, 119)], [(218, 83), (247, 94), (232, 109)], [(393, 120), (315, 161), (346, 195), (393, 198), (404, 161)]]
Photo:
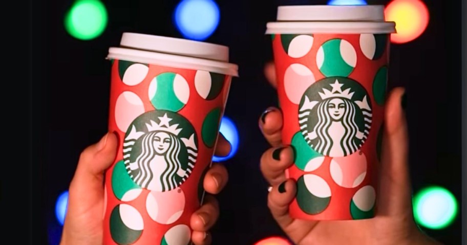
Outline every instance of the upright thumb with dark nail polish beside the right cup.
[(404, 94), (404, 88), (395, 88), (388, 97), (385, 112), (378, 212), (389, 216), (412, 213), (412, 190), (408, 166), (409, 137), (406, 116), (402, 108)]

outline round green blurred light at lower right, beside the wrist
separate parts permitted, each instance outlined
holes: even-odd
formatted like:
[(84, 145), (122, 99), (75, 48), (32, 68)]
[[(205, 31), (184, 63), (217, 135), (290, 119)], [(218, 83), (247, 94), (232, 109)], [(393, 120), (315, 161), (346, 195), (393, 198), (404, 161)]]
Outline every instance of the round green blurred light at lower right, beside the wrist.
[(457, 215), (457, 201), (447, 189), (431, 186), (414, 196), (415, 221), (430, 229), (449, 226)]

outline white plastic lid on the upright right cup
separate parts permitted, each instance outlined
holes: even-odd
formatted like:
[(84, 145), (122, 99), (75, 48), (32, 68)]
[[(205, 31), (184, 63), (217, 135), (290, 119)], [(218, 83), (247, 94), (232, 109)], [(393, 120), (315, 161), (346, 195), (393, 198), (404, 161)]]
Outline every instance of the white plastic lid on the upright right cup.
[(395, 32), (395, 23), (385, 21), (383, 5), (311, 5), (280, 6), (266, 34)]

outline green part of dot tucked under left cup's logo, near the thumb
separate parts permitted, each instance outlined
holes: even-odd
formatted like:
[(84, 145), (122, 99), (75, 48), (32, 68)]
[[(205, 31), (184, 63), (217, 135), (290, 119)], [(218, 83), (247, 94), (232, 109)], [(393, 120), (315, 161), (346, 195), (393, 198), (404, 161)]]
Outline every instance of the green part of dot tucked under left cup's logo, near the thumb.
[(112, 172), (112, 190), (114, 191), (114, 195), (121, 200), (123, 195), (129, 190), (140, 188), (128, 175), (123, 161), (116, 163)]

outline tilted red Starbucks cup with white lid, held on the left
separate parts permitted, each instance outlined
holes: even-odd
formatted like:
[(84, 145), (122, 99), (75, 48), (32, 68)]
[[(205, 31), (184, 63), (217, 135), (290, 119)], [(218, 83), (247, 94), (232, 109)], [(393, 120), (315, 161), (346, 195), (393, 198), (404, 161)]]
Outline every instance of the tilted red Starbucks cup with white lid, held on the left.
[(104, 244), (186, 245), (232, 76), (228, 48), (124, 33), (112, 61)]

